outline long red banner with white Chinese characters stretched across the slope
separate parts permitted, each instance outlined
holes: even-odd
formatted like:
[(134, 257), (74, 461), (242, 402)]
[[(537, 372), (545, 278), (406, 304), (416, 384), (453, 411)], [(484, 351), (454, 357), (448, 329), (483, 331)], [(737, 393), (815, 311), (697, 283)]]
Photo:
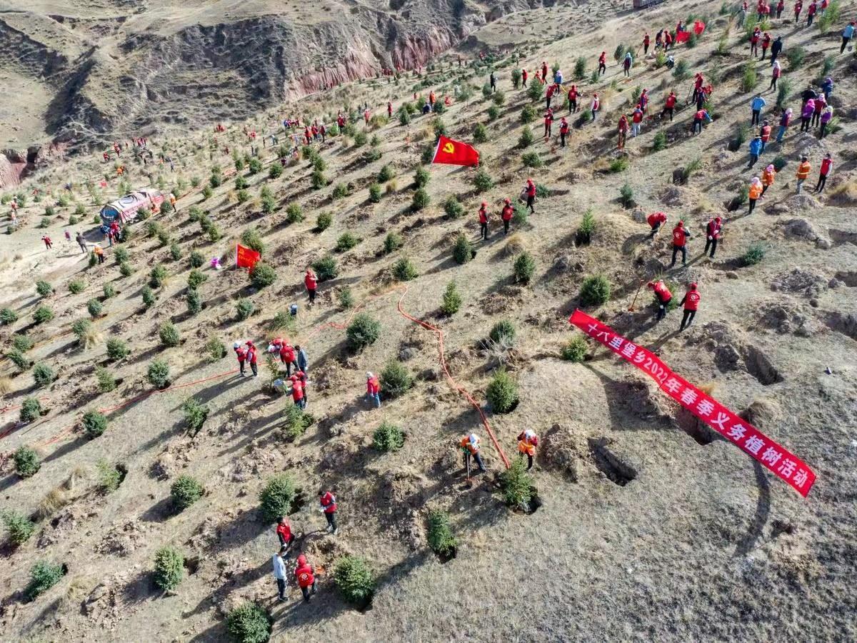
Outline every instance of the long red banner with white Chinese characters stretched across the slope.
[(726, 406), (710, 395), (704, 394), (690, 382), (675, 375), (652, 352), (616, 334), (613, 328), (602, 324), (595, 317), (575, 310), (568, 322), (580, 328), (593, 340), (607, 346), (620, 358), (625, 358), (638, 369), (643, 370), (669, 397), (736, 447), (768, 467), (778, 478), (791, 484), (794, 490), (806, 498), (809, 490), (812, 489), (812, 484), (815, 483), (815, 473), (804, 464), (803, 460), (788, 453), (786, 449), (765, 436), (745, 419), (729, 411)]

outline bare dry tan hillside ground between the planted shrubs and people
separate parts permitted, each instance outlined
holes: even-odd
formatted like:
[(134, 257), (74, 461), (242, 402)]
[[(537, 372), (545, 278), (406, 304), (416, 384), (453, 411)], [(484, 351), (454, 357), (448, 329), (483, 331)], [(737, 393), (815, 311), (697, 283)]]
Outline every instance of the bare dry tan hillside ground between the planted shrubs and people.
[[(187, 188), (178, 213), (156, 219), (179, 243), (183, 257), (173, 261), (167, 247), (148, 237), (144, 224), (136, 224), (135, 237), (125, 244), (135, 268), (129, 277), (119, 273), (111, 249), (103, 266), (87, 267), (76, 245), (62, 240), (66, 229), (87, 231), (96, 240), (89, 220), (97, 207), (84, 183), (91, 179), (98, 187), (103, 175), (110, 177), (98, 191), (114, 197), (119, 188), (112, 162), (101, 163), (100, 153), (71, 159), (27, 182), (22, 188), (27, 193), (39, 187), (52, 196), (39, 203), (29, 198), (21, 229), (0, 236), (5, 261), (0, 299), (20, 317), (3, 327), (3, 341), (8, 350), (12, 334), (33, 337), (37, 344), (29, 357), (51, 364), (58, 379), (48, 388), (35, 388), (28, 371), (18, 373), (8, 361), (3, 367), (10, 382), (3, 399), (9, 410), (0, 429), (2, 506), (24, 514), (37, 514), (41, 506), (33, 537), (3, 550), (4, 638), (224, 640), (225, 614), (245, 599), (270, 610), (274, 640), (857, 638), (852, 591), (857, 581), (857, 63), (853, 55), (837, 55), (843, 21), (826, 36), (814, 27), (795, 29), (788, 21), (774, 21), (773, 34), (782, 34), (786, 43), (784, 54), (799, 45), (807, 51), (806, 60), (794, 68), (783, 58), (783, 77), (793, 90), (788, 105), (800, 108), (800, 90), (819, 75), (824, 57), (832, 56), (836, 89), (831, 103), (840, 129), (819, 141), (815, 133), (800, 134), (800, 123), (793, 121), (782, 145), (770, 143), (754, 168), (761, 171), (760, 165), (779, 156), (787, 161), (764, 200), (750, 216), (746, 205), (729, 210), (724, 204), (753, 176), (746, 169), (746, 143), (728, 150), (738, 124), (749, 122), (753, 92), (739, 87), (748, 60), (742, 30), (733, 26), (728, 32), (728, 55), (713, 53), (729, 24), (728, 16), (717, 16), (718, 9), (720, 4), (712, 2), (666, 3), (634, 13), (624, 5), (618, 11), (603, 5), (595, 25), (589, 17), (580, 19), (578, 9), (562, 5), (491, 23), (484, 39), (479, 31), (476, 41), (466, 43), (465, 60), (476, 57), (480, 42), (511, 42), (508, 51), (521, 57), (519, 63), (509, 57), (496, 63), (506, 99), (493, 121), (488, 119), (492, 103), (480, 92), (487, 70), (459, 69), (453, 51), (435, 61), (428, 75), (409, 74), (398, 85), (356, 82), (259, 113), (247, 123), (231, 123), (224, 134), (213, 134), (213, 123), (204, 123), (181, 138), (153, 135), (155, 152), (177, 160), (175, 172), (166, 164), (144, 167), (125, 153), (122, 157), (135, 187), (157, 183), (159, 176), (168, 186), (180, 177), (186, 184), (192, 177), (204, 182), (215, 163), (232, 169), (222, 147), (249, 153), (243, 127), (277, 132), (283, 142), (288, 136), (280, 122), (286, 116), (330, 123), (340, 105), (367, 101), (373, 113), (381, 114), (388, 99), (398, 109), (413, 93), (425, 95), (434, 88), (438, 96), (452, 96), (454, 86), (473, 84), (475, 95), (456, 99), (441, 118), (448, 134), (464, 141), (470, 141), (476, 123), (487, 125), (488, 142), (477, 147), (497, 184), (477, 194), (473, 170), (430, 166), (426, 189), (431, 202), (417, 213), (410, 210), (412, 177), (423, 148), (434, 141), (430, 117), (415, 117), (409, 126), (394, 118), (369, 129), (381, 150), (381, 159), (374, 161), (363, 159), (369, 143), (355, 147), (353, 137), (333, 136), (317, 144), (331, 181), (319, 190), (310, 187), (312, 168), (305, 160), (276, 179), (267, 178), (267, 172), (248, 176), (252, 198), (245, 203), (237, 202), (233, 177), (205, 200), (199, 190)], [(844, 3), (842, 15), (853, 15), (854, 9), (854, 3)], [(715, 121), (696, 136), (690, 135), (694, 108), (683, 105), (692, 76), (677, 81), (667, 69), (657, 69), (651, 56), (640, 56), (631, 80), (623, 81), (612, 59), (620, 42), (636, 44), (646, 30), (654, 36), (691, 11), (710, 16), (709, 30), (695, 48), (676, 50), (676, 60), (685, 60), (691, 74), (701, 70), (706, 78), (718, 78)], [(789, 11), (784, 17), (791, 17)], [(509, 38), (504, 40), (506, 24)], [(521, 39), (517, 30), (527, 25), (545, 25), (555, 39), (547, 44)], [(610, 64), (593, 86), (589, 72), (600, 51), (608, 51)], [(561, 148), (555, 139), (558, 121), (547, 143), (539, 139), (540, 118), (521, 124), (530, 99), (512, 89), (510, 72), (520, 64), (532, 73), (542, 60), (556, 61), (567, 79), (578, 56), (587, 60), (586, 80), (578, 83), (586, 94), (584, 105), (596, 90), (603, 109), (596, 123), (578, 125), (573, 117), (569, 145)], [(756, 66), (761, 91), (770, 67), (767, 61)], [(654, 115), (670, 87), (682, 104), (673, 123), (658, 117), (646, 121), (642, 135), (629, 138), (628, 167), (611, 172), (610, 162), (619, 156), (616, 123), (621, 111), (630, 111), (635, 87), (649, 89)], [(776, 121), (776, 93), (763, 95), (765, 115)], [(542, 106), (536, 104), (537, 114)], [(356, 126), (363, 130), (362, 120)], [(518, 138), (526, 127), (533, 129), (536, 142), (521, 150)], [(654, 137), (661, 131), (666, 147), (654, 151)], [(522, 165), (522, 153), (533, 151), (544, 167)], [(836, 165), (824, 193), (815, 195), (812, 187), (826, 152), (833, 153)], [(277, 162), (270, 143), (260, 153), (266, 164)], [(798, 196), (794, 171), (800, 153), (809, 155), (812, 173), (804, 195)], [(685, 184), (674, 184), (674, 170), (693, 159), (700, 160), (698, 170)], [(385, 164), (396, 177), (381, 201), (372, 203), (369, 184)], [(506, 196), (515, 198), (528, 176), (548, 195), (538, 200), (535, 215), (512, 225), (512, 237), (503, 237), (500, 203)], [(75, 201), (86, 206), (85, 220), (68, 225), (73, 202), (57, 207), (46, 229), (38, 228), (45, 204), (57, 199), (67, 181), (74, 184)], [(339, 183), (349, 186), (348, 195), (334, 198)], [(619, 201), (623, 183), (633, 191), (635, 204), (629, 207)], [(261, 213), (263, 186), (276, 195), (273, 213)], [(444, 213), (450, 195), (464, 204), (464, 218)], [(482, 200), (491, 212), (486, 243), (477, 239), (476, 209)], [(290, 224), (285, 207), (295, 202), (306, 219)], [(192, 206), (209, 213), (225, 237), (210, 242), (189, 219)], [(596, 233), (589, 245), (578, 246), (575, 231), (590, 208)], [(668, 230), (684, 219), (692, 231), (688, 267), (668, 269), (668, 231), (654, 242), (645, 240), (643, 217), (655, 210), (668, 213)], [(333, 213), (333, 225), (318, 232), (316, 216), (322, 212)], [(710, 260), (702, 255), (703, 228), (716, 214), (724, 217), (725, 235)], [(208, 279), (200, 286), (206, 308), (189, 315), (185, 295), (191, 249), (207, 258), (228, 256), (251, 226), (261, 231), (263, 256), (277, 268), (277, 283), (251, 291), (245, 273), (214, 272), (206, 265)], [(303, 271), (331, 252), (345, 231), (361, 242), (333, 253), (339, 277), (321, 285), (317, 305), (309, 308)], [(405, 245), (385, 255), (381, 249), (390, 231), (401, 234)], [(452, 259), (459, 231), (476, 249), (473, 261), (464, 265)], [(54, 240), (52, 251), (43, 250), (39, 241), (45, 232)], [(764, 244), (764, 259), (745, 266), (740, 258), (754, 242)], [(514, 281), (512, 262), (519, 249), (511, 249), (513, 243), (536, 259), (530, 285)], [(392, 266), (405, 255), (420, 274), (402, 284), (393, 278)], [(159, 291), (158, 303), (145, 309), (141, 288), (158, 264), (168, 268), (171, 278)], [(806, 500), (712, 431), (687, 422), (654, 382), (612, 353), (592, 344), (583, 363), (560, 358), (561, 346), (572, 336), (567, 317), (579, 306), (580, 285), (596, 273), (608, 277), (612, 296), (587, 311), (658, 352), (688, 381), (713, 387), (718, 400), (747, 412), (758, 429), (812, 466), (818, 481)], [(676, 286), (679, 297), (692, 281), (702, 292), (696, 322), (683, 333), (678, 332), (678, 310), (654, 323), (645, 289), (637, 310), (627, 310), (640, 280), (659, 275)], [(68, 290), (73, 278), (86, 282), (79, 294)], [(33, 288), (37, 279), (51, 282), (55, 294), (40, 301)], [(453, 279), (464, 304), (446, 317), (439, 306)], [(105, 301), (105, 316), (94, 325), (102, 340), (122, 337), (132, 349), (128, 358), (110, 364), (103, 341), (82, 349), (70, 333), (72, 322), (88, 316), (87, 301), (101, 297), (105, 283), (118, 294)], [(345, 334), (331, 325), (353, 315), (337, 303), (345, 286), (361, 311), (375, 316), (383, 328), (381, 339), (359, 353), (350, 352)], [(244, 322), (235, 313), (241, 297), (252, 299), (257, 310)], [(399, 300), (411, 315), (442, 326), (452, 375), (482, 403), (497, 367), (483, 342), (494, 322), (515, 323), (518, 340), (506, 356), (506, 368), (518, 381), (520, 403), (508, 414), (486, 412), (510, 457), (519, 431), (531, 428), (542, 437), (534, 470), (542, 506), (535, 513), (518, 514), (504, 506), (494, 484), (502, 470), (499, 456), (476, 411), (442, 376), (434, 335), (399, 315)], [(240, 378), (230, 374), (236, 368), (231, 356), (209, 363), (204, 346), (211, 337), (227, 345), (254, 339), (265, 346), (272, 336), (268, 322), (293, 302), (301, 309), (292, 339), (309, 352), (309, 412), (316, 421), (289, 442), (281, 415), (291, 400), (263, 390), (264, 365), (260, 378)], [(56, 316), (32, 326), (33, 309), (41, 303)], [(158, 328), (165, 321), (176, 323), (181, 346), (160, 346)], [(146, 370), (154, 358), (171, 365), (172, 382), (182, 388), (109, 412), (103, 436), (83, 436), (77, 422), (82, 412), (111, 409), (152, 390)], [(363, 374), (380, 371), (391, 359), (402, 360), (417, 376), (416, 386), (399, 399), (385, 400), (380, 410), (370, 409), (363, 402)], [(108, 394), (99, 394), (94, 376), (101, 364), (122, 381)], [(17, 424), (15, 406), (33, 395), (45, 398), (49, 412), (33, 424)], [(186, 432), (180, 408), (191, 396), (211, 409), (195, 437)], [(384, 420), (407, 434), (404, 448), (392, 454), (371, 447), (373, 431)], [(471, 430), (482, 434), (489, 472), (468, 487), (456, 441)], [(21, 445), (41, 454), (42, 466), (33, 478), (15, 475), (10, 456)], [(605, 448), (610, 458), (604, 457)], [(95, 486), (101, 459), (128, 470), (119, 489), (107, 495)], [(312, 562), (330, 570), (344, 554), (369, 560), (378, 576), (371, 609), (346, 604), (329, 574), (321, 576), (312, 603), (303, 604), (295, 586), (285, 604), (277, 603), (271, 575), (277, 541), (273, 526), (257, 511), (258, 492), (276, 472), (289, 472), (306, 493), (308, 502), (291, 515), (291, 525)], [(206, 494), (177, 514), (171, 509), (170, 486), (185, 473), (198, 478)], [(45, 496), (70, 477), (73, 489), (63, 490), (64, 504), (46, 508)], [(315, 494), (333, 485), (340, 502), (336, 537), (323, 531), (315, 509)], [(432, 508), (449, 512), (460, 538), (457, 556), (449, 562), (440, 562), (425, 541)], [(189, 560), (185, 579), (170, 594), (156, 590), (151, 578), (154, 552), (164, 544), (176, 545)], [(69, 571), (27, 603), (22, 590), (37, 560), (62, 562)]]

